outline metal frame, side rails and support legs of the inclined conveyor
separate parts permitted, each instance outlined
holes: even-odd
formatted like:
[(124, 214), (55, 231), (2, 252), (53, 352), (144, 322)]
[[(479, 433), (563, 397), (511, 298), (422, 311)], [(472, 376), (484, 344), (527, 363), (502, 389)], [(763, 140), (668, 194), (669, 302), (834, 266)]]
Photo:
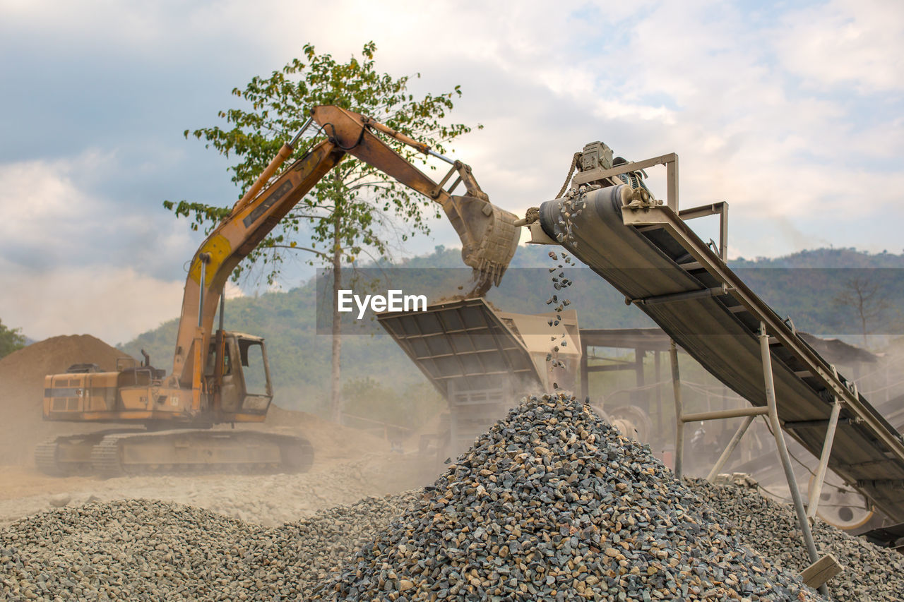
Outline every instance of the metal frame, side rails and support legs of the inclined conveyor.
[[(655, 201), (654, 199), (652, 199), (652, 197), (648, 197), (646, 195), (638, 196), (636, 194), (636, 191), (632, 190), (630, 186), (622, 186), (622, 183), (615, 177), (618, 174), (636, 172), (644, 167), (650, 167), (653, 165), (666, 166), (668, 202), (665, 205), (661, 201)], [(904, 437), (901, 437), (901, 435), (897, 431), (895, 431), (894, 428), (891, 428), (888, 421), (883, 419), (880, 414), (871, 407), (869, 402), (862, 400), (857, 391), (856, 385), (854, 385), (850, 381), (843, 379), (843, 377), (838, 374), (833, 366), (825, 362), (818, 353), (815, 353), (815, 351), (810, 348), (809, 345), (807, 345), (797, 336), (796, 329), (794, 328), (793, 324), (789, 324), (789, 320), (782, 320), (778, 315), (776, 315), (775, 312), (773, 312), (772, 309), (767, 306), (767, 304), (760, 300), (758, 296), (754, 295), (752, 291), (750, 291), (749, 288), (743, 283), (743, 281), (741, 281), (740, 278), (728, 268), (728, 266), (726, 265), (728, 245), (728, 205), (727, 203), (722, 202), (713, 203), (710, 206), (703, 206), (702, 208), (693, 208), (691, 210), (684, 211), (680, 210), (678, 207), (677, 165), (677, 155), (670, 154), (661, 155), (659, 157), (654, 157), (653, 159), (647, 159), (645, 161), (636, 163), (617, 165), (616, 167), (610, 169), (595, 169), (582, 172), (577, 174), (573, 180), (573, 185), (575, 186), (575, 188), (579, 187), (579, 190), (575, 191), (574, 189), (572, 189), (569, 197), (573, 197), (575, 195), (575, 192), (577, 192), (579, 195), (583, 195), (585, 193), (590, 194), (594, 189), (600, 187), (606, 188), (610, 183), (615, 184), (617, 187), (620, 186), (621, 191), (619, 192), (615, 190), (609, 196), (609, 199), (611, 199), (612, 202), (616, 202), (618, 196), (620, 195), (620, 221), (622, 221), (626, 227), (636, 230), (636, 232), (640, 236), (640, 239), (650, 237), (652, 234), (654, 234), (652, 230), (664, 230), (667, 238), (673, 240), (674, 243), (676, 243), (681, 249), (683, 249), (683, 251), (685, 252), (684, 258), (692, 259), (692, 261), (688, 262), (684, 261), (684, 259), (674, 259), (674, 256), (672, 256), (673, 265), (676, 265), (678, 268), (685, 270), (685, 272), (689, 276), (691, 275), (692, 270), (703, 270), (708, 273), (712, 279), (715, 280), (716, 288), (713, 288), (713, 284), (708, 284), (704, 285), (700, 290), (691, 289), (679, 292), (666, 292), (662, 295), (647, 295), (645, 296), (645, 298), (631, 298), (630, 296), (627, 296), (626, 293), (626, 303), (633, 303), (638, 306), (649, 306), (660, 303), (671, 304), (674, 302), (686, 302), (689, 299), (704, 296), (721, 297), (722, 299), (724, 299), (724, 297), (726, 296), (730, 296), (731, 303), (728, 303), (728, 305), (725, 306), (725, 309), (727, 311), (729, 311), (733, 315), (748, 313), (749, 316), (745, 318), (745, 321), (748, 324), (749, 322), (754, 322), (755, 324), (758, 323), (758, 333), (755, 331), (750, 334), (758, 338), (759, 347), (761, 349), (763, 362), (762, 370), (766, 388), (766, 414), (772, 424), (773, 435), (776, 438), (779, 456), (781, 456), (782, 465), (786, 473), (788, 487), (791, 490), (798, 520), (801, 523), (801, 530), (804, 531), (804, 539), (807, 551), (809, 556), (811, 557), (811, 560), (815, 562), (816, 560), (818, 560), (815, 550), (815, 544), (813, 542), (812, 533), (809, 530), (809, 521), (805, 513), (804, 505), (800, 498), (800, 492), (797, 488), (796, 477), (790, 465), (790, 458), (787, 454), (783, 434), (783, 430), (787, 429), (792, 434), (792, 436), (797, 438), (796, 428), (803, 425), (795, 425), (794, 421), (790, 421), (789, 424), (784, 425), (778, 417), (775, 385), (772, 375), (773, 360), (770, 347), (781, 346), (785, 349), (786, 353), (788, 353), (790, 356), (793, 356), (796, 362), (800, 364), (800, 366), (794, 371), (795, 376), (800, 379), (811, 378), (815, 380), (815, 386), (812, 384), (812, 382), (808, 383), (807, 386), (811, 387), (811, 390), (814, 390), (815, 392), (818, 392), (817, 388), (823, 390), (822, 395), (829, 398), (832, 406), (829, 419), (826, 421), (826, 434), (823, 438), (822, 453), (820, 455), (820, 465), (816, 475), (815, 487), (813, 488), (814, 491), (811, 491), (810, 493), (811, 499), (816, 498), (813, 499), (814, 503), (811, 504), (812, 512), (815, 513), (815, 504), (818, 503), (819, 489), (823, 482), (823, 477), (828, 465), (829, 456), (831, 455), (833, 436), (839, 423), (839, 413), (842, 405), (847, 407), (849, 414), (853, 414), (850, 422), (862, 424), (862, 426), (868, 430), (869, 436), (873, 437), (873, 445), (876, 445), (878, 443), (879, 445), (877, 446), (877, 449), (880, 450), (883, 456), (888, 457), (892, 464), (895, 462), (898, 462), (899, 464), (901, 462), (904, 462)], [(588, 185), (585, 186), (582, 184)], [(606, 202), (604, 200), (605, 197), (597, 196), (595, 198), (598, 198), (600, 202)], [(566, 203), (568, 202), (566, 201)], [(568, 206), (573, 207), (570, 204)], [(562, 205), (552, 205), (550, 209), (544, 209), (544, 207), (547, 207), (547, 203), (544, 203), (544, 206), (540, 209), (539, 213), (541, 221), (530, 224), (532, 241), (546, 244), (555, 244), (556, 240), (559, 240), (563, 244), (563, 246), (567, 247), (573, 254), (579, 255), (580, 258), (581, 254), (579, 253), (579, 250), (576, 250), (578, 240), (573, 240), (573, 245), (570, 244), (570, 242), (563, 240), (563, 235), (565, 235), (566, 232), (570, 236), (570, 229), (573, 227), (573, 222), (572, 225), (568, 226), (568, 230), (564, 230), (564, 227), (562, 227), (562, 229), (560, 230), (559, 226), (555, 225), (556, 222), (554, 216), (557, 214), (560, 215), (560, 213), (558, 212), (561, 211)], [(582, 205), (580, 205), (580, 207), (582, 207)], [(602, 207), (605, 207), (605, 204), (602, 205)], [(697, 235), (684, 222), (684, 219), (692, 219), (694, 217), (702, 217), (704, 215), (712, 214), (720, 215), (720, 244), (718, 248), (712, 241), (710, 247), (702, 240), (700, 240), (699, 237), (697, 237)], [(546, 215), (547, 217), (544, 217), (544, 215)], [(566, 219), (571, 219), (569, 217), (570, 213), (565, 212), (565, 216)], [(561, 217), (559, 217), (559, 223), (562, 223)], [(611, 228), (611, 226), (609, 227)], [(651, 243), (653, 243), (653, 246), (655, 246), (652, 238), (648, 238), (647, 240), (649, 240)], [(588, 243), (588, 240), (582, 239), (582, 244), (592, 245), (595, 241), (596, 240), (593, 240)], [(601, 243), (602, 241), (599, 240), (599, 242)], [(621, 244), (624, 245), (625, 242), (626, 240), (622, 240)], [(638, 245), (640, 245), (640, 243), (638, 243)], [(595, 249), (596, 250), (594, 252), (598, 254), (602, 252), (598, 247), (596, 247)], [(639, 250), (640, 247), (638, 247), (637, 249), (638, 251), (637, 255), (634, 256), (635, 258), (641, 257), (641, 251)], [(714, 250), (717, 250), (718, 254), (714, 252)], [(660, 250), (660, 252), (663, 251)], [(593, 257), (593, 252), (590, 253), (590, 257)], [(597, 264), (591, 265), (591, 267), (595, 268), (600, 273), (600, 275), (604, 275), (600, 270), (607, 269), (606, 266), (610, 264), (607, 264), (604, 261), (599, 265), (603, 267), (595, 267), (597, 266)], [(611, 266), (609, 269), (612, 268), (617, 269), (615, 266)], [(699, 281), (700, 280), (698, 278), (698, 282)], [(626, 287), (625, 290), (630, 290), (630, 287)], [(723, 301), (722, 303), (727, 302)], [(746, 327), (748, 329), (752, 328), (752, 326), (750, 325)], [(722, 416), (713, 415), (707, 417), (701, 414), (696, 414), (686, 415), (683, 417), (681, 386), (679, 381), (678, 365), (676, 361), (677, 353), (674, 346), (672, 347), (671, 356), (673, 360), (672, 372), (675, 396), (675, 413), (678, 421), (678, 428), (676, 428), (675, 434), (675, 473), (680, 477), (682, 470), (681, 465), (683, 455), (682, 447), (684, 422), (690, 419), (726, 418), (729, 414), (731, 414), (731, 412), (721, 412), (720, 414), (722, 414)], [(745, 420), (744, 424), (741, 425), (741, 427), (738, 429), (738, 432), (736, 432), (735, 436), (732, 437), (729, 447), (727, 447), (723, 452), (722, 457), (720, 457), (719, 463), (723, 463), (724, 460), (728, 458), (731, 450), (737, 445), (739, 439), (743, 436), (744, 432), (749, 427), (749, 424), (752, 422), (754, 416), (760, 413), (762, 412), (759, 410), (749, 411), (746, 409), (733, 413), (733, 415), (735, 416), (744, 416), (747, 417), (747, 419)], [(796, 421), (800, 422), (801, 420), (798, 419)], [(804, 422), (813, 422), (813, 420), (804, 420)], [(717, 463), (717, 466), (719, 463)], [(839, 468), (843, 470), (843, 465), (836, 466), (836, 471)], [(842, 476), (845, 477), (845, 480), (848, 482), (851, 482), (853, 480), (853, 475)], [(879, 487), (879, 484), (880, 480), (859, 479), (857, 480), (855, 486), (861, 491), (862, 494), (865, 494), (870, 498), (871, 503), (881, 508), (884, 504), (880, 503), (880, 500), (876, 499), (871, 494), (870, 488)], [(885, 484), (884, 481), (881, 481), (882, 486), (898, 487), (902, 484), (904, 484), (904, 479), (889, 480), (889, 484)], [(890, 503), (892, 504), (891, 507), (894, 507), (894, 501), (890, 500)], [(820, 590), (824, 593), (824, 587), (820, 588)]]

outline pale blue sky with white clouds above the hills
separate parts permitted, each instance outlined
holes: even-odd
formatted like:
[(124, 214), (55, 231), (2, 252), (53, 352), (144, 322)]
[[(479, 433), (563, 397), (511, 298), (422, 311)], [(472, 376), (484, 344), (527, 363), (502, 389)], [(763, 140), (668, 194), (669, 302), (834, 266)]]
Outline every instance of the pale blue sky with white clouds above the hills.
[[(484, 127), (450, 154), (504, 209), (553, 198), (602, 140), (677, 153), (682, 207), (729, 202), (731, 258), (904, 250), (898, 0), (0, 0), (0, 320), (120, 343), (175, 317), (202, 234), (163, 201), (238, 198), (184, 130), (307, 42), (346, 61), (368, 41), (416, 94), (461, 86), (451, 118)], [(458, 245), (432, 230), (400, 255)]]

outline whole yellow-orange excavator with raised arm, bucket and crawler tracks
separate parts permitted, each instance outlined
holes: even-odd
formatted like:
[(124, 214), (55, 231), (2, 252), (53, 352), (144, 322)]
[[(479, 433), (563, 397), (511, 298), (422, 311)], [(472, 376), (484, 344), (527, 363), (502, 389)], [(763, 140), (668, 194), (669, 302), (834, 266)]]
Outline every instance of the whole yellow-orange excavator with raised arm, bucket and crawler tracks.
[[(313, 123), (325, 139), (278, 174)], [(451, 165), (448, 173), (434, 182), (377, 133), (446, 161)], [(223, 330), (222, 291), (241, 259), (345, 155), (438, 202), (462, 241), (462, 259), (473, 268), (472, 296), (498, 286), (518, 244), (517, 218), (489, 202), (468, 165), (350, 110), (315, 107), (297, 136), (282, 146), (194, 253), (185, 280), (172, 372), (167, 375), (154, 368), (145, 355), (140, 364), (130, 359), (120, 362), (116, 372), (80, 363), (45, 377), (44, 419), (137, 428), (52, 439), (35, 451), (35, 464), (42, 472), (110, 477), (218, 470), (287, 473), (310, 468), (314, 450), (304, 437), (234, 428), (236, 423), (264, 421), (273, 388), (264, 340)], [(456, 179), (446, 188), (453, 176)], [(453, 195), (459, 183), (464, 183), (465, 193)], [(214, 330), (218, 306), (219, 328)], [(212, 428), (217, 424), (232, 428)]]

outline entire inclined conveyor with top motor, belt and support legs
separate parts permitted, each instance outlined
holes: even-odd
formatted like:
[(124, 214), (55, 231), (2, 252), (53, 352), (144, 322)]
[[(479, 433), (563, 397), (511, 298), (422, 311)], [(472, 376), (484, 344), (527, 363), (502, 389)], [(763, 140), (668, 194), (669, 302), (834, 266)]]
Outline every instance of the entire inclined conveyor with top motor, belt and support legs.
[[(687, 423), (741, 418), (711, 475), (718, 474), (753, 419), (767, 416), (812, 562), (819, 560), (808, 517), (831, 469), (891, 522), (904, 521), (904, 437), (845, 378), (728, 268), (728, 204), (679, 209), (678, 156), (628, 163), (602, 143), (576, 156), (567, 193), (527, 212), (532, 242), (560, 244), (640, 308), (677, 346), (751, 404), (683, 410), (675, 346), (670, 349), (676, 415), (675, 472), (682, 475)], [(579, 160), (578, 160), (579, 159)], [(664, 165), (666, 201), (640, 185), (643, 170)], [(567, 184), (566, 184), (567, 188)], [(719, 241), (701, 240), (687, 221), (720, 218)], [(783, 431), (820, 458), (807, 506)]]

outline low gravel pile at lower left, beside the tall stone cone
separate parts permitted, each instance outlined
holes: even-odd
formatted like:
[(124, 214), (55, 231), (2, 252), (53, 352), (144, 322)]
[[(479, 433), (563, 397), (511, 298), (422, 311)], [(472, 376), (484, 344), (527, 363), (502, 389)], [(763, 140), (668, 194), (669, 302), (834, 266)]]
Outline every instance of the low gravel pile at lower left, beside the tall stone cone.
[(61, 508), (0, 531), (0, 599), (306, 599), (419, 495), (276, 529), (148, 500)]

